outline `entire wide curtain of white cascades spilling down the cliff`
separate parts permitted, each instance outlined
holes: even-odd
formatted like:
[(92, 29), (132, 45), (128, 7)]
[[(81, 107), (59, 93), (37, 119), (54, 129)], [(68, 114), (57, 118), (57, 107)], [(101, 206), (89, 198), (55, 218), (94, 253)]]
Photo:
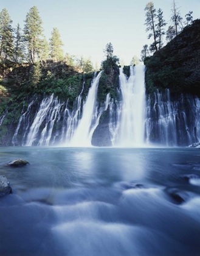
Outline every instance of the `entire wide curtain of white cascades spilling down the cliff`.
[[(97, 89), (101, 74), (94, 76), (85, 102), (82, 99), (83, 82), (72, 109), (68, 102), (58, 101), (53, 94), (40, 103), (37, 99), (30, 102), (27, 110), (25, 107), (22, 109), (12, 144), (188, 146), (200, 140), (198, 98), (182, 95), (170, 99), (170, 90), (166, 89), (162, 93), (157, 90), (148, 95), (145, 103), (145, 66), (135, 66), (130, 68), (129, 79), (120, 69), (117, 99), (110, 98), (108, 94), (104, 104), (100, 104), (97, 102)], [(0, 117), (0, 126), (6, 115), (7, 112)], [(106, 119), (101, 119), (104, 121), (99, 124), (100, 116), (106, 116)], [(98, 143), (101, 139), (103, 143)]]

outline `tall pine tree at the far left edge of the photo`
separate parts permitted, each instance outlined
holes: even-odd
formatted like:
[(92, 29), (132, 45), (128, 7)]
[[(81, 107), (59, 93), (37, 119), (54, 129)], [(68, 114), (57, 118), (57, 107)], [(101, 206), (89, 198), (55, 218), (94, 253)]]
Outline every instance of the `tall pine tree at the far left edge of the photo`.
[(0, 59), (12, 60), (13, 45), (13, 29), (12, 20), (7, 9), (3, 9), (0, 13)]

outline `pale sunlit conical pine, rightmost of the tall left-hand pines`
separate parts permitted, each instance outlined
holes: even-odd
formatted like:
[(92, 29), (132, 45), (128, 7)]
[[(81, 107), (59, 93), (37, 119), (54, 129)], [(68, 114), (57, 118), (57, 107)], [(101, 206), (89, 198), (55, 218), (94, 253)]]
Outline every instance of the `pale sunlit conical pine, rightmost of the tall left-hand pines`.
[(64, 53), (63, 49), (61, 48), (63, 46), (63, 42), (60, 38), (60, 33), (57, 29), (57, 27), (53, 27), (52, 31), (52, 37), (50, 38), (50, 57), (55, 60), (63, 60), (64, 59)]

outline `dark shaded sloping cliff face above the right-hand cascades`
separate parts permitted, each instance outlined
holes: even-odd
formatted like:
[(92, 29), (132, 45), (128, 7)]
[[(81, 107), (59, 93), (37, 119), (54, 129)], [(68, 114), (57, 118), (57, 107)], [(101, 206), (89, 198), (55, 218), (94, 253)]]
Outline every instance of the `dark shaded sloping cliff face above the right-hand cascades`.
[(147, 58), (145, 65), (147, 93), (168, 88), (174, 94), (200, 96), (200, 20)]

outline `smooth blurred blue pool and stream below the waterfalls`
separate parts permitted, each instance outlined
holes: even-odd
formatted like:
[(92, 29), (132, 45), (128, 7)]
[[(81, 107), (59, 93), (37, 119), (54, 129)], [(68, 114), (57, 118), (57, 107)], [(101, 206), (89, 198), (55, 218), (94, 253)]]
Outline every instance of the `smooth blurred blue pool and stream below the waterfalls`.
[(0, 175), (0, 255), (199, 255), (199, 149), (7, 147)]

